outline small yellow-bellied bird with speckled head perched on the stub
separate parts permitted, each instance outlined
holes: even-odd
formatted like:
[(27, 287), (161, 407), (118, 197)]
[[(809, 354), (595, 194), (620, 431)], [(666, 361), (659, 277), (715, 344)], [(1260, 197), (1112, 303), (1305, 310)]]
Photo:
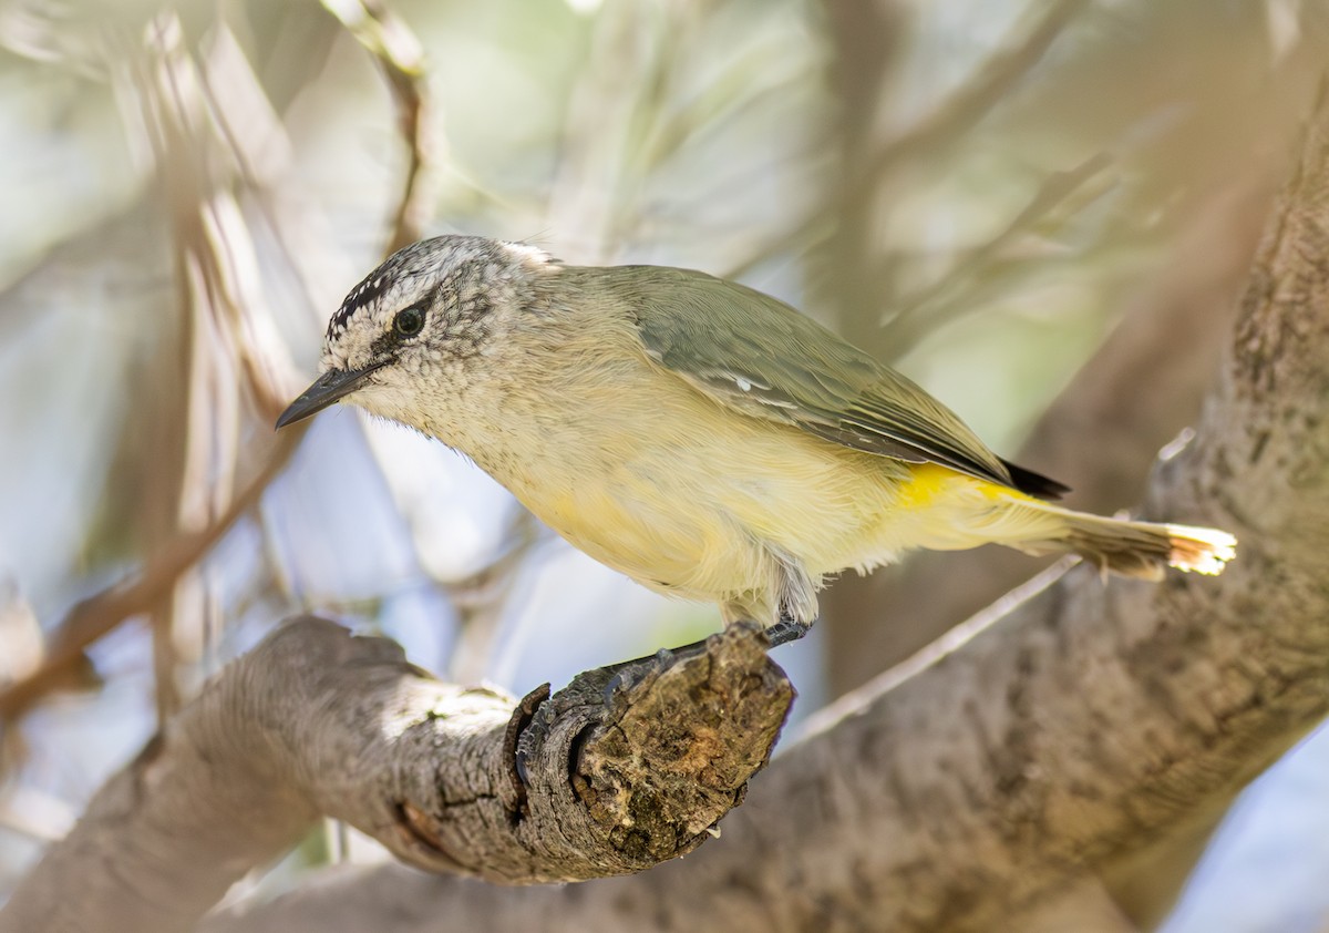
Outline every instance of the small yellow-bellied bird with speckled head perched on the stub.
[(585, 267), (437, 237), (358, 284), (322, 375), (278, 419), (346, 400), (474, 460), (573, 545), (772, 642), (828, 575), (997, 542), (1155, 579), (1216, 574), (1227, 532), (1053, 505), (945, 405), (791, 306), (662, 266)]

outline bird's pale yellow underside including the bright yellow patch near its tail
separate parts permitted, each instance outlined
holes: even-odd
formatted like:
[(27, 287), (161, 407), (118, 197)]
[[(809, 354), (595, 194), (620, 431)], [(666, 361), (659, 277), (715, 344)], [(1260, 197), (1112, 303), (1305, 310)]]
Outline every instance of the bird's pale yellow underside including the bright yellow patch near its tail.
[(812, 586), (910, 548), (971, 548), (994, 496), (910, 465), (720, 408), (680, 380), (561, 393), (522, 425), (540, 447), (484, 464), (545, 524), (653, 589), (769, 610), (795, 566)]

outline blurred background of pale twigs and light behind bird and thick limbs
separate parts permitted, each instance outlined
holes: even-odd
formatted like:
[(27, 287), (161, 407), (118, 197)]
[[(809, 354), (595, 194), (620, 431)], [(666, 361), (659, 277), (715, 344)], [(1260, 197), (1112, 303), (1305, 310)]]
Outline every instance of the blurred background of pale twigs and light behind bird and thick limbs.
[[(342, 408), (272, 433), (385, 251), (740, 278), (1111, 512), (1217, 372), (1326, 27), (1322, 0), (0, 0), (0, 898), (294, 611), (517, 694), (718, 627), (436, 443)], [(776, 655), (799, 715), (1039, 566), (839, 581)], [(1142, 922), (1329, 930), (1329, 735), (1164, 855), (1116, 889)], [(328, 827), (233, 897), (373, 857)]]

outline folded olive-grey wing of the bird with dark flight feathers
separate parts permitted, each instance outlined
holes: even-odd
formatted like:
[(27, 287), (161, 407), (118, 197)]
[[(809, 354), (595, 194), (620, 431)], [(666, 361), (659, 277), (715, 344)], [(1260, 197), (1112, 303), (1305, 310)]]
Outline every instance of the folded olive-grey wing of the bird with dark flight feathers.
[[(650, 359), (730, 408), (867, 453), (1015, 482), (954, 412), (769, 295), (661, 266), (597, 268), (594, 282), (626, 304)], [(1062, 488), (1019, 473), (1035, 494)]]

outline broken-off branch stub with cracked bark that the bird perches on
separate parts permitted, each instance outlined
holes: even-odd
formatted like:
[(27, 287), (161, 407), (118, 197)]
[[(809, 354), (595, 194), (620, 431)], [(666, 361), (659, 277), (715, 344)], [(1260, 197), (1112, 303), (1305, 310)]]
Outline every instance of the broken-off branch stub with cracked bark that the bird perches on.
[(440, 683), (384, 639), (290, 622), (98, 792), (0, 930), (191, 929), (323, 813), (405, 863), (505, 884), (680, 856), (742, 800), (793, 692), (744, 626), (627, 674), (514, 703)]

